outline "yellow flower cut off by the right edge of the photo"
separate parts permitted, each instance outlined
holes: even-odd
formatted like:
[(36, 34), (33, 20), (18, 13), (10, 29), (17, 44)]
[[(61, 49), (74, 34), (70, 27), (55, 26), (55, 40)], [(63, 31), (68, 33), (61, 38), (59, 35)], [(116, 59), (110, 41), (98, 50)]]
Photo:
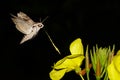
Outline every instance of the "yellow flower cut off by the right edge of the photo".
[(107, 67), (110, 80), (120, 80), (120, 50), (113, 57), (111, 64)]

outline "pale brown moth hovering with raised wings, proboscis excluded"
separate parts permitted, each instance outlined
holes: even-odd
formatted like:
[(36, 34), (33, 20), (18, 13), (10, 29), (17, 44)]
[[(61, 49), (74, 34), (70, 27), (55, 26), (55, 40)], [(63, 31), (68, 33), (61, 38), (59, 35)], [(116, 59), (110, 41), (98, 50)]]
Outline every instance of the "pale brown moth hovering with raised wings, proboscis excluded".
[(29, 16), (23, 12), (17, 13), (17, 16), (12, 15), (12, 21), (14, 22), (18, 31), (24, 34), (20, 44), (32, 39), (37, 35), (39, 30), (44, 27), (42, 22), (34, 22)]

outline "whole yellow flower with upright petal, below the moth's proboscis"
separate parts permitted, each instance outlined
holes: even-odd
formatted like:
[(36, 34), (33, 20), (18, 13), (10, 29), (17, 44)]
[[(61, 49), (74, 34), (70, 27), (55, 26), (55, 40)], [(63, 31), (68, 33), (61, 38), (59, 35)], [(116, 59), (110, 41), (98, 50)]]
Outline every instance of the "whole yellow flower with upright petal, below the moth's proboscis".
[(71, 55), (59, 60), (50, 72), (52, 80), (60, 80), (66, 72), (70, 72), (80, 67), (84, 59), (83, 45), (81, 39), (78, 38), (70, 44)]

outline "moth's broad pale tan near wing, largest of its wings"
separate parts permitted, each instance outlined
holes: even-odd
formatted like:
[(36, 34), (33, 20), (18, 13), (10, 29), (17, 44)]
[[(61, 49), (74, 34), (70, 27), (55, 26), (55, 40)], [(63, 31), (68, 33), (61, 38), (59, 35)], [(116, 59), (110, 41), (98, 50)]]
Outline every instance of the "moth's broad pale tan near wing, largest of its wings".
[(32, 32), (32, 25), (28, 24), (28, 22), (19, 17), (14, 17), (12, 20), (15, 23), (16, 28), (23, 34), (30, 34)]

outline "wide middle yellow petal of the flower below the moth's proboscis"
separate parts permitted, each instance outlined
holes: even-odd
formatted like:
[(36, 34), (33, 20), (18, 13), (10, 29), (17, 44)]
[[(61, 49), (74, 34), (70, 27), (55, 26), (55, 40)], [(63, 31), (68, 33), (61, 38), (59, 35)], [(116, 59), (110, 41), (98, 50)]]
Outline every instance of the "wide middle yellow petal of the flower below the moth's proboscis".
[[(59, 60), (55, 65), (54, 69), (67, 69), (67, 72), (75, 69), (76, 66), (80, 66), (84, 56), (81, 54), (74, 54), (66, 56), (65, 58)], [(58, 65), (59, 64), (59, 65)]]

